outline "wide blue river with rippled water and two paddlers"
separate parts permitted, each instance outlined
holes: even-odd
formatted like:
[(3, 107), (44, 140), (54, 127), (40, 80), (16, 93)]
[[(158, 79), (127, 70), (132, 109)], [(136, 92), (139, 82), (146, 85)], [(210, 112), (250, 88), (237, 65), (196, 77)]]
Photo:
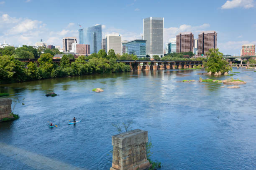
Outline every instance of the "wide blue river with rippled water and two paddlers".
[[(112, 123), (133, 120), (148, 131), (161, 170), (256, 169), (256, 72), (233, 68), (240, 89), (217, 83), (204, 70), (155, 70), (86, 75), (0, 85), (25, 97), (0, 123), (1, 170), (109, 170)], [(213, 76), (212, 76), (213, 77)], [(222, 76), (223, 80), (230, 76)], [(93, 88), (104, 92), (92, 92)], [(54, 91), (59, 96), (46, 97)], [(82, 122), (68, 125), (76, 117)], [(49, 121), (58, 127), (49, 128)]]

